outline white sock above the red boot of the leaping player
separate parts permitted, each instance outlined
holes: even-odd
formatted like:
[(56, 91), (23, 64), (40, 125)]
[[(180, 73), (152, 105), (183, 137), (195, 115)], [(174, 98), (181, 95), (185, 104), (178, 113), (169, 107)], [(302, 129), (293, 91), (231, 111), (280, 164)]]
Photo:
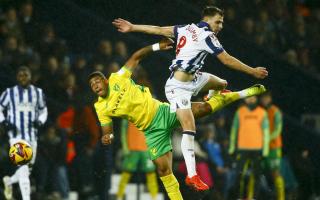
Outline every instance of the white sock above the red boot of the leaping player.
[(187, 166), (188, 176), (192, 177), (196, 172), (196, 158), (194, 154), (195, 132), (183, 131), (181, 140), (181, 150)]

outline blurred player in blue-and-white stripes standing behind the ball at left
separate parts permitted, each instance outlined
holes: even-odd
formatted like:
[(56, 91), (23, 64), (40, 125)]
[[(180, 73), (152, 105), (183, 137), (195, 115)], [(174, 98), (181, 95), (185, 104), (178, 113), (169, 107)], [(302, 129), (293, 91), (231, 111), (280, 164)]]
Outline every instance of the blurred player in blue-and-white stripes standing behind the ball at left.
[(31, 84), (31, 71), (21, 66), (17, 85), (7, 88), (0, 96), (0, 123), (6, 128), (10, 146), (23, 140), (31, 145), (33, 156), (29, 165), (21, 165), (14, 174), (3, 177), (6, 199), (13, 198), (13, 184), (19, 183), (23, 200), (31, 198), (30, 171), (37, 155), (37, 136), (47, 121), (48, 110), (42, 89)]

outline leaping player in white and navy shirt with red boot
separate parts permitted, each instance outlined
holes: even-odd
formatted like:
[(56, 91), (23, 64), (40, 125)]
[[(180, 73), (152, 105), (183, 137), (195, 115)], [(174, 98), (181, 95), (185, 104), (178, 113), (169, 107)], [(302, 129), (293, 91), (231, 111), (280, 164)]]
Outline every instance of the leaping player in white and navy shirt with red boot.
[[(172, 74), (166, 82), (165, 92), (171, 110), (176, 112), (183, 128), (181, 149), (188, 171), (185, 181), (196, 191), (206, 191), (209, 187), (201, 181), (196, 172), (194, 156), (196, 127), (191, 110), (191, 97), (199, 92), (209, 91), (208, 98), (210, 98), (214, 90), (221, 91), (227, 86), (226, 80), (209, 73), (199, 72), (205, 57), (213, 54), (224, 65), (255, 78), (263, 79), (268, 76), (265, 67), (250, 67), (223, 49), (216, 37), (223, 27), (223, 16), (221, 9), (208, 6), (204, 8), (202, 20), (198, 24), (159, 27), (132, 24), (121, 18), (113, 21), (113, 25), (123, 33), (143, 32), (176, 39), (176, 59), (170, 66)], [(158, 44), (153, 45), (154, 50), (158, 48)], [(252, 90), (261, 89), (261, 86), (252, 88)]]

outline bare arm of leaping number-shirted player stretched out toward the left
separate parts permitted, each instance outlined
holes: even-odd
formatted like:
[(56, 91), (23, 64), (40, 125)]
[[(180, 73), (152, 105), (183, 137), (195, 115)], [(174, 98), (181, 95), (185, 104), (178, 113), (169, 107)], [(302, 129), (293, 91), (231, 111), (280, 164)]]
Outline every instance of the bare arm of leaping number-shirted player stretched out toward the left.
[(142, 32), (152, 35), (163, 35), (165, 37), (174, 37), (173, 26), (152, 26), (152, 25), (140, 25), (132, 24), (131, 22), (117, 18), (113, 20), (112, 24), (118, 29), (119, 32), (128, 33), (128, 32)]

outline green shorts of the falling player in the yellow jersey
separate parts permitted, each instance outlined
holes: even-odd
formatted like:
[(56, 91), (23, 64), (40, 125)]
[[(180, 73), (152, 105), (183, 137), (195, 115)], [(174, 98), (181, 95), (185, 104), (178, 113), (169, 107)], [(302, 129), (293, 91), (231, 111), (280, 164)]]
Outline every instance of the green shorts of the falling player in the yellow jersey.
[(159, 106), (151, 124), (144, 130), (151, 160), (172, 150), (171, 133), (179, 124), (176, 113), (170, 112), (169, 104)]

